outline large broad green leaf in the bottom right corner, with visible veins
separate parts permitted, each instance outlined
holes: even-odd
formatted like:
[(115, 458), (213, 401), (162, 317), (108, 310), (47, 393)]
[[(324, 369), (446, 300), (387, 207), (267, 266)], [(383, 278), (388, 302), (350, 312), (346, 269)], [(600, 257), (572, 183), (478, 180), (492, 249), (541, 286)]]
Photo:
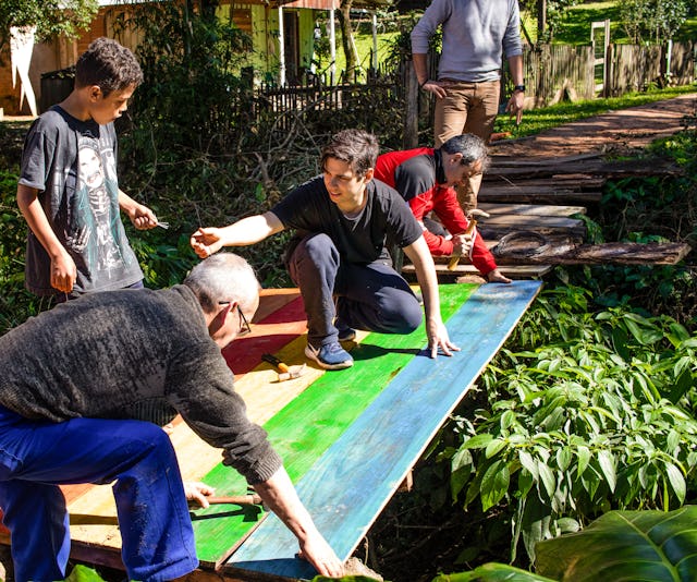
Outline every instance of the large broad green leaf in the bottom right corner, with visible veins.
[(697, 506), (610, 511), (579, 533), (535, 546), (536, 571), (560, 581), (690, 581), (697, 572)]

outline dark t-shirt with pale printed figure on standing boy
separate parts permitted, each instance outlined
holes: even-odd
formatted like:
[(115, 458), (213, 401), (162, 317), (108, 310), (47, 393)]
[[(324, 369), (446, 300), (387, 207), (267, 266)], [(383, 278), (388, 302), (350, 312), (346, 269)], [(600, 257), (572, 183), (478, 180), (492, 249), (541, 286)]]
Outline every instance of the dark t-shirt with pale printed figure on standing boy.
[[(38, 190), (51, 229), (77, 267), (77, 293), (143, 279), (121, 221), (117, 154), (113, 123), (81, 121), (59, 106), (36, 119), (25, 140), (20, 184)], [(51, 259), (30, 230), (25, 277), (33, 293), (58, 293)]]

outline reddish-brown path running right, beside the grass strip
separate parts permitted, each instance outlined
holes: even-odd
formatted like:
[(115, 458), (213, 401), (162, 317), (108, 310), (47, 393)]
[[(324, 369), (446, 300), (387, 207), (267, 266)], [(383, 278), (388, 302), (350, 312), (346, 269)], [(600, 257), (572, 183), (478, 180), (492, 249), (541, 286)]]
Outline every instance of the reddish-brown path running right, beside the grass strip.
[[(591, 151), (624, 154), (683, 129), (684, 116), (697, 112), (697, 93), (611, 111), (530, 137), (494, 142), (492, 157), (558, 157)], [(525, 116), (523, 116), (525, 123)]]

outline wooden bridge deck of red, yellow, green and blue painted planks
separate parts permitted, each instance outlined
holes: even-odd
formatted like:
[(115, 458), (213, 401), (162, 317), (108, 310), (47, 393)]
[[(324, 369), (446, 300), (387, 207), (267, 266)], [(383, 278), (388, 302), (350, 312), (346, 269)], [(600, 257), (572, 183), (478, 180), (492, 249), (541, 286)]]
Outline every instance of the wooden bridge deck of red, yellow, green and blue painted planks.
[[(223, 355), (249, 416), (262, 425), (318, 528), (341, 559), (348, 558), (484, 367), (541, 288), (539, 281), (443, 284), (442, 315), (462, 351), (429, 359), (424, 326), (407, 336), (358, 332), (354, 367), (308, 367), (278, 381), (261, 361), (270, 352), (305, 362), (306, 319), (297, 290), (267, 290), (253, 332)], [(246, 493), (221, 453), (175, 422), (172, 441), (185, 480), (217, 495)], [(121, 537), (109, 486), (63, 487), (71, 512), (72, 557), (122, 568)], [(192, 511), (199, 569), (192, 581), (311, 579), (297, 543), (276, 516), (258, 506)], [(9, 543), (7, 532), (1, 539)]]

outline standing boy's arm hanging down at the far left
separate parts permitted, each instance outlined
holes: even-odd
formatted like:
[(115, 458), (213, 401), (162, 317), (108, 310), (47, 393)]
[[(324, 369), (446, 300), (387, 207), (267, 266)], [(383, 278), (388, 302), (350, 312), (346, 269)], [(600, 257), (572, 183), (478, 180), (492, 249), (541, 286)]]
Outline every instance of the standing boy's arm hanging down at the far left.
[(51, 259), (51, 287), (61, 293), (70, 293), (77, 278), (77, 267), (56, 237), (38, 199), (38, 190), (23, 184), (17, 185), (17, 206), (29, 229)]

